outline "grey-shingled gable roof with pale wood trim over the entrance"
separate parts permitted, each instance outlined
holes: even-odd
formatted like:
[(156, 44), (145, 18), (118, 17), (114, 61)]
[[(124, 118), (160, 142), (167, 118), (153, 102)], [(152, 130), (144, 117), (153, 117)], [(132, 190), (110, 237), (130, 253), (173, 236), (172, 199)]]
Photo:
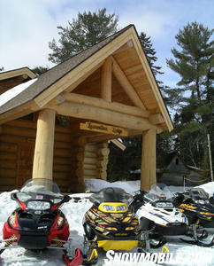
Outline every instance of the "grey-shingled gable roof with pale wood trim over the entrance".
[[(80, 82), (84, 81), (84, 79), (81, 78), (84, 74), (86, 75), (88, 69), (91, 71), (88, 71), (88, 73), (93, 73), (98, 66), (102, 66), (104, 59), (106, 59), (108, 56), (111, 56), (115, 51), (118, 51), (120, 47), (125, 45), (130, 40), (132, 40), (134, 43), (133, 50), (135, 54), (137, 57), (141, 58), (139, 59), (135, 56), (135, 59), (137, 59), (141, 65), (141, 69), (138, 71), (143, 72), (138, 83), (145, 87), (145, 90), (143, 89), (142, 91), (141, 86), (138, 85), (139, 88), (137, 89), (137, 93), (142, 101), (144, 94), (148, 93), (147, 91), (149, 90), (147, 107), (149, 107), (149, 102), (153, 101), (154, 109), (154, 111), (149, 111), (152, 111), (153, 113), (162, 113), (164, 116), (164, 129), (172, 130), (171, 118), (167, 108), (164, 105), (161, 93), (158, 90), (154, 74), (152, 74), (150, 70), (146, 55), (142, 51), (139, 36), (137, 35), (134, 25), (129, 25), (128, 27), (123, 28), (116, 34), (107, 37), (102, 42), (96, 43), (87, 50), (81, 51), (80, 53), (74, 55), (71, 59), (54, 66), (46, 73), (40, 75), (37, 81), (30, 85), (27, 90), (23, 90), (18, 96), (12, 98), (10, 101), (5, 103), (4, 106), (1, 106), (0, 121), (1, 114), (4, 115), (4, 113), (7, 112), (12, 113), (12, 110), (18, 106), (21, 107), (22, 105), (26, 105), (28, 102), (34, 100), (34, 104), (37, 107), (37, 110), (39, 110), (42, 108), (42, 106), (45, 106), (45, 104), (49, 103), (51, 99), (55, 98), (58, 94), (66, 90), (68, 86), (73, 86), (73, 89), (76, 88)], [(124, 57), (126, 57), (126, 55)], [(79, 77), (79, 80), (77, 79), (77, 76)], [(144, 80), (147, 79), (146, 84), (145, 82), (142, 82), (142, 78)], [(154, 102), (157, 102), (155, 108)]]

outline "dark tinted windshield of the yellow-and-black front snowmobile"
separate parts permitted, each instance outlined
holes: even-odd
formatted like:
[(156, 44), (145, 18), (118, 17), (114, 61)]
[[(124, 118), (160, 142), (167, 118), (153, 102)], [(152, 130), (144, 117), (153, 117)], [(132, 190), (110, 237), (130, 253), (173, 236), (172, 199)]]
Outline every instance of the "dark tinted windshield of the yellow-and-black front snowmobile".
[(128, 194), (121, 188), (107, 187), (102, 189), (100, 192), (92, 194), (89, 200), (93, 202), (96, 206), (98, 206), (103, 202), (128, 203), (131, 198), (132, 195)]

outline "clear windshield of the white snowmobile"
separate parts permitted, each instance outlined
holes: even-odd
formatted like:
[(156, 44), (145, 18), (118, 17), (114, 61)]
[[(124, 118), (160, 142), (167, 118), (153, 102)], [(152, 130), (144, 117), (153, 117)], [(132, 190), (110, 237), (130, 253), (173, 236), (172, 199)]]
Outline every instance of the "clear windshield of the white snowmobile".
[(165, 184), (152, 184), (149, 192), (145, 194), (145, 200), (149, 201), (172, 201), (172, 192)]

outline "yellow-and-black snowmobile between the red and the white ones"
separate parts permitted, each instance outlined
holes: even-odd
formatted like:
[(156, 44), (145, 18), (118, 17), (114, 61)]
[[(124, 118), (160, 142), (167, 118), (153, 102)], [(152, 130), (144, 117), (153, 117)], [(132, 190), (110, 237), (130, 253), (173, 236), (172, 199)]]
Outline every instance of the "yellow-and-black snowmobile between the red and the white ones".
[(107, 187), (89, 197), (93, 206), (83, 218), (84, 250), (91, 248), (130, 251), (145, 247), (137, 216), (128, 209), (132, 195), (118, 187)]

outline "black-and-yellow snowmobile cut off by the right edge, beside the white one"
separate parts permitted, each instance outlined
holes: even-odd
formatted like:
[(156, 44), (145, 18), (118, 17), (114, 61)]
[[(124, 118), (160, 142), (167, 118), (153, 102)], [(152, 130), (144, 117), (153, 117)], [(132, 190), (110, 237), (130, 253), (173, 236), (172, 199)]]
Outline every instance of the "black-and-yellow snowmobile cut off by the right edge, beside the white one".
[(214, 228), (214, 200), (203, 188), (192, 188), (177, 193), (174, 204), (187, 216), (190, 224), (198, 227)]

